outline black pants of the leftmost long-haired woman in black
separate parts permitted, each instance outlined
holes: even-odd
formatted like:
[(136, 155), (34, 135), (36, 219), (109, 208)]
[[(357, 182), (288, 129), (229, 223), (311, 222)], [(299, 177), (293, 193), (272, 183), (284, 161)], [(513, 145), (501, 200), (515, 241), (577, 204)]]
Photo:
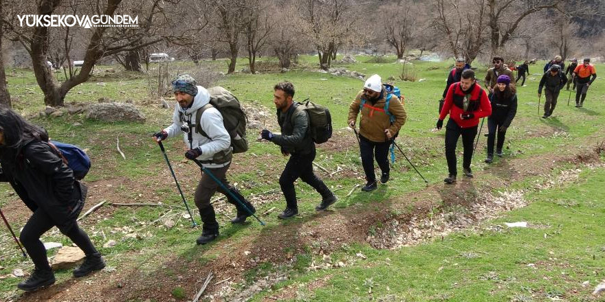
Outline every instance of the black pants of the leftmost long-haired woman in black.
[[(50, 270), (46, 257), (46, 248), (44, 248), (44, 244), (40, 241), (40, 236), (54, 226), (55, 222), (52, 218), (45, 211), (38, 208), (34, 211), (34, 215), (30, 217), (28, 223), (25, 224), (25, 227), (23, 227), (23, 231), (21, 231), (19, 240), (21, 240), (21, 244), (23, 244), (25, 250), (28, 251), (36, 268)], [(77, 222), (74, 222), (73, 226), (67, 230), (63, 228), (60, 230), (63, 235), (69, 237), (72, 242), (82, 249), (87, 256), (98, 253), (85, 231), (78, 227)]]

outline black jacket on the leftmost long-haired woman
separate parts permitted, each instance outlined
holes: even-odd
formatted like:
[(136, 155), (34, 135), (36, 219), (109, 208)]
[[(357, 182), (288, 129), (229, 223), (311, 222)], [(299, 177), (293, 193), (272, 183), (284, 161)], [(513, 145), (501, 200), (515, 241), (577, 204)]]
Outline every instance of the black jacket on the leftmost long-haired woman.
[(17, 152), (1, 150), (0, 165), (0, 181), (8, 181), (32, 211), (45, 211), (61, 231), (74, 226), (86, 187), (47, 143), (30, 141)]

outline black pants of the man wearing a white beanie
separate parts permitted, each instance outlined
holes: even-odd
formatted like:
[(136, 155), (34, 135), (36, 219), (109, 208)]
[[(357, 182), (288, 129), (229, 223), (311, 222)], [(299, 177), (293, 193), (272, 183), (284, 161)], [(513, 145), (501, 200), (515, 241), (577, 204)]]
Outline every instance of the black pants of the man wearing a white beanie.
[(391, 168), (388, 166), (388, 147), (391, 141), (377, 143), (370, 141), (360, 135), (360, 153), (362, 155), (362, 166), (366, 174), (366, 181), (369, 183), (376, 181), (374, 174), (374, 157), (382, 173), (388, 174)]

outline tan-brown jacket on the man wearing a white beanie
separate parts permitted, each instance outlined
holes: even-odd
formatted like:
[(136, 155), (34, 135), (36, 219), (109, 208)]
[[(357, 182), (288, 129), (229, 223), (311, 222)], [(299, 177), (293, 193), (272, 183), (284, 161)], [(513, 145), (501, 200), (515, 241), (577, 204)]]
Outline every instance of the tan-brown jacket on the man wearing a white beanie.
[[(351, 106), (349, 106), (348, 124), (350, 124), (351, 121), (357, 121), (363, 95), (364, 92), (360, 91), (355, 97), (355, 100), (351, 103)], [(386, 104), (384, 100), (384, 97), (386, 97), (384, 86), (382, 87), (382, 95), (382, 99), (378, 100), (376, 104), (372, 105), (371, 102), (366, 101), (364, 108), (362, 108), (362, 117), (360, 119), (360, 135), (377, 143), (382, 143), (387, 140), (384, 133), (385, 129), (390, 130), (391, 135), (395, 136), (401, 126), (404, 126), (406, 119), (408, 118), (404, 105), (399, 102), (397, 96), (393, 95), (391, 101), (388, 102), (388, 112), (395, 117), (395, 121), (393, 121), (393, 124), (391, 125), (388, 115), (384, 112), (384, 104)], [(372, 106), (375, 109), (369, 108), (368, 106)]]

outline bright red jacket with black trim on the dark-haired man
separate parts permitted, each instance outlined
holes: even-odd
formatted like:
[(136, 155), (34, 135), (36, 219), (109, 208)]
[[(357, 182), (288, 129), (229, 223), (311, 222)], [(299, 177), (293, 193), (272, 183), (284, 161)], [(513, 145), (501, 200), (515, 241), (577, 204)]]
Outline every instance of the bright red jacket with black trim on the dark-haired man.
[[(460, 82), (450, 85), (448, 94), (445, 95), (445, 103), (441, 108), (439, 119), (445, 119), (445, 116), (450, 114), (450, 119), (453, 119), (461, 128), (470, 128), (479, 124), (481, 117), (489, 117), (492, 115), (492, 105), (489, 104), (487, 93), (479, 86), (473, 84), (470, 87), (470, 100), (467, 111), (463, 111), (463, 101), (465, 93), (463, 93)], [(472, 119), (461, 119), (463, 113), (472, 113)]]

